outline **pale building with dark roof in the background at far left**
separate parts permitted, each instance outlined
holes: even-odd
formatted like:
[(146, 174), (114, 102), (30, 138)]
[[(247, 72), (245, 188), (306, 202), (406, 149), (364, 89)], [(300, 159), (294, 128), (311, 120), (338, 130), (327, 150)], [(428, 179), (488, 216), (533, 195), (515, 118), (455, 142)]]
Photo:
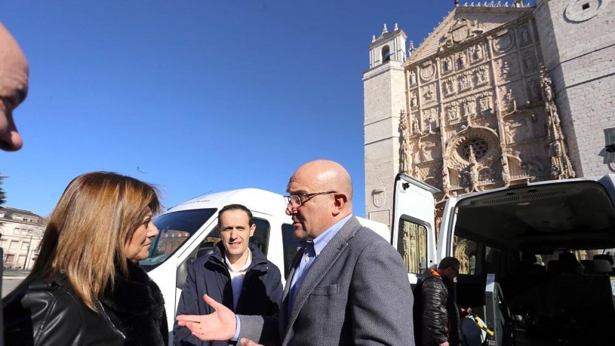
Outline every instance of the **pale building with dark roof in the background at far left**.
[(0, 246), (4, 249), (2, 266), (30, 270), (38, 257), (45, 227), (45, 219), (33, 212), (0, 208)]

